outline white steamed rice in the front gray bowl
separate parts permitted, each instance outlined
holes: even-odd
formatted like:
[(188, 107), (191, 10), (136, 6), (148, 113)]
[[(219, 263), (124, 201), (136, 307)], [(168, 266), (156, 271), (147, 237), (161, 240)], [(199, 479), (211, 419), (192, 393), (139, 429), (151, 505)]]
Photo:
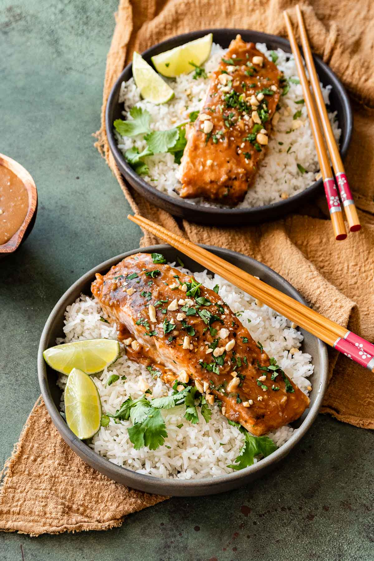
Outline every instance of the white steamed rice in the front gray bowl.
[[(190, 273), (187, 269), (181, 267), (178, 269)], [(239, 319), (248, 328), (255, 341), (261, 341), (268, 355), (274, 356), (289, 378), (308, 394), (307, 388), (310, 385), (308, 376), (313, 373), (312, 357), (302, 351), (297, 351), (294, 355), (289, 352), (290, 349), (301, 346), (302, 334), (292, 328), (290, 322), (283, 316), (276, 314), (267, 306), (258, 306), (251, 296), (218, 275), (212, 278), (206, 271), (193, 275), (208, 288), (219, 284), (219, 295), (233, 312), (242, 312)], [(101, 321), (100, 316), (103, 315), (95, 298), (81, 295), (74, 304), (67, 307), (64, 320), (66, 336), (57, 342), (68, 343), (96, 338), (117, 339), (116, 326)], [(120, 379), (105, 388), (105, 383), (111, 374), (118, 374)], [(121, 380), (121, 376), (126, 376), (126, 380)], [(99, 390), (103, 412), (115, 413), (128, 397), (131, 396), (133, 399), (141, 397), (144, 392), (139, 388), (140, 378), (149, 384), (152, 397), (163, 397), (171, 393), (170, 388), (159, 378), (153, 380), (145, 367), (128, 360), (122, 350), (121, 356), (112, 366), (105, 369), (102, 374), (93, 376)], [(66, 380), (66, 376), (59, 375), (60, 388), (65, 387)], [(191, 424), (184, 419), (184, 406), (162, 410), (168, 437), (165, 444), (156, 450), (148, 448), (135, 450), (127, 433), (131, 421), (121, 421), (116, 424), (113, 419), (110, 419), (107, 427), (100, 428), (90, 446), (110, 462), (156, 477), (193, 479), (230, 473), (233, 470), (227, 466), (238, 456), (243, 435), (236, 427), (228, 424), (217, 405), (210, 408), (211, 420), (207, 423), (199, 414), (200, 420), (197, 424)], [(62, 415), (63, 409), (62, 401)], [(180, 424), (183, 426), (178, 428)], [(293, 431), (292, 427), (283, 426), (269, 433), (269, 436), (279, 447), (287, 442)]]

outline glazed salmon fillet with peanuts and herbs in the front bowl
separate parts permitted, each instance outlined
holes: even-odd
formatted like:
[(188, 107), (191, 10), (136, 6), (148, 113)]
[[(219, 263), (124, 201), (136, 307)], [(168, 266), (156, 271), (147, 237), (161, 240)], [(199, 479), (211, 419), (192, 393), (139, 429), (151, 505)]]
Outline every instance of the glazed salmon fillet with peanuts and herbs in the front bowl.
[(279, 367), (271, 369), (273, 361), (219, 295), (197, 284), (140, 253), (96, 274), (91, 289), (128, 337), (128, 358), (166, 383), (192, 379), (209, 403), (219, 400), (228, 419), (257, 436), (298, 419), (309, 398)]

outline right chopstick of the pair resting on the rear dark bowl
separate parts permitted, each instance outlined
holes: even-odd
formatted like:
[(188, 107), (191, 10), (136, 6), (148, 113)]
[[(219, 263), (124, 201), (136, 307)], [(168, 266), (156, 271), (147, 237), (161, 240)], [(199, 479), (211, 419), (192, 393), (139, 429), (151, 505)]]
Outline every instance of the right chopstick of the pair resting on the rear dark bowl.
[(313, 61), (312, 51), (310, 48), (307, 31), (305, 29), (303, 15), (299, 5), (296, 6), (297, 20), (299, 24), (299, 31), (301, 36), (301, 43), (303, 45), (304, 59), (309, 72), (309, 79), (312, 86), (313, 94), (315, 96), (318, 112), (320, 113), (320, 118), (322, 122), (322, 128), (324, 129), (324, 135), (327, 143), (327, 148), (329, 149), (331, 161), (333, 162), (333, 168), (335, 172), (336, 181), (338, 182), (339, 192), (341, 202), (345, 210), (345, 215), (348, 220), (348, 226), (351, 232), (358, 232), (361, 229), (361, 224), (359, 222), (357, 209), (355, 208), (353, 195), (350, 191), (347, 176), (345, 175), (344, 165), (341, 161), (339, 148), (336, 144), (333, 129), (331, 128), (331, 123), (329, 116), (327, 115), (327, 109), (324, 102), (324, 96), (322, 95), (320, 80), (318, 79), (315, 63)]

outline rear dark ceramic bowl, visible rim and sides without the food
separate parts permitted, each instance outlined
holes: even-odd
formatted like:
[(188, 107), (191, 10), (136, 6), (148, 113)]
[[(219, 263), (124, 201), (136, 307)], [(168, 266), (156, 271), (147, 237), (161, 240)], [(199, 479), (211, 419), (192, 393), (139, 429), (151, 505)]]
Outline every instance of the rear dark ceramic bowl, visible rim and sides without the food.
[[(205, 29), (202, 31), (193, 31), (192, 33), (186, 33), (184, 35), (178, 35), (172, 39), (167, 39), (166, 41), (147, 49), (144, 53), (142, 53), (142, 56), (151, 64), (151, 57), (155, 54), (173, 49), (178, 45), (197, 39), (207, 33), (213, 33), (213, 41), (215, 43), (219, 43), (225, 48), (227, 48), (230, 41), (235, 38), (238, 33), (240, 33), (242, 38), (248, 42), (253, 41), (255, 43), (266, 43), (267, 47), (271, 49), (280, 48), (285, 52), (291, 52), (288, 40), (276, 35), (269, 35), (266, 33), (260, 33), (260, 31), (244, 29)], [(348, 95), (331, 68), (325, 65), (319, 57), (314, 56), (313, 58), (322, 84), (324, 84), (324, 86), (333, 86), (330, 93), (330, 108), (331, 111), (338, 112), (338, 121), (341, 128), (340, 154), (344, 158), (349, 146), (353, 126), (352, 109), (350, 108)], [(118, 103), (119, 90), (122, 82), (129, 80), (131, 77), (132, 65), (130, 64), (126, 66), (110, 92), (105, 111), (105, 127), (107, 129), (110, 150), (112, 150), (114, 159), (116, 160), (121, 173), (130, 185), (132, 185), (136, 191), (149, 200), (150, 203), (159, 206), (161, 209), (167, 210), (174, 216), (191, 220), (191, 222), (211, 224), (214, 226), (217, 224), (224, 224), (225, 226), (248, 226), (248, 224), (264, 222), (265, 220), (282, 217), (292, 210), (302, 209), (303, 204), (308, 199), (315, 197), (318, 193), (322, 192), (322, 180), (318, 180), (310, 187), (306, 188), (303, 192), (293, 195), (292, 197), (289, 197), (289, 199), (280, 200), (279, 202), (272, 203), (270, 205), (239, 209), (214, 208), (196, 205), (188, 203), (186, 199), (182, 199), (181, 197), (170, 197), (169, 195), (156, 190), (138, 176), (138, 174), (135, 173), (131, 166), (126, 162), (121, 150), (118, 149), (116, 138), (113, 133), (114, 120), (123, 117), (123, 104)]]

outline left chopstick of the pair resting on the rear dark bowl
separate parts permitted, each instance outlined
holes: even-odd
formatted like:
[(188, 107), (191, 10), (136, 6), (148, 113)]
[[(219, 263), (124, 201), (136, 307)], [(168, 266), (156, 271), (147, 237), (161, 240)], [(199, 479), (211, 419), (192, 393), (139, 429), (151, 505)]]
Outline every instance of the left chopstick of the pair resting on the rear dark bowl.
[(330, 166), (329, 156), (327, 155), (324, 138), (322, 136), (322, 130), (320, 127), (320, 123), (318, 122), (317, 111), (315, 108), (315, 104), (313, 102), (312, 94), (309, 88), (309, 82), (306, 77), (301, 54), (298, 45), (296, 43), (296, 39), (293, 33), (291, 22), (288, 17), (288, 13), (283, 12), (283, 15), (288, 31), (289, 42), (291, 44), (293, 56), (295, 58), (295, 65), (303, 88), (304, 100), (308, 111), (314, 142), (316, 145), (318, 162), (320, 162), (322, 179), (324, 180), (326, 200), (327, 200), (327, 205), (329, 206), (331, 222), (333, 224), (333, 229), (335, 234), (335, 240), (345, 240), (345, 238), (347, 237), (347, 230), (345, 229), (343, 214), (341, 213), (339, 195), (338, 195), (338, 191), (336, 190), (333, 171), (331, 170), (331, 166)]

